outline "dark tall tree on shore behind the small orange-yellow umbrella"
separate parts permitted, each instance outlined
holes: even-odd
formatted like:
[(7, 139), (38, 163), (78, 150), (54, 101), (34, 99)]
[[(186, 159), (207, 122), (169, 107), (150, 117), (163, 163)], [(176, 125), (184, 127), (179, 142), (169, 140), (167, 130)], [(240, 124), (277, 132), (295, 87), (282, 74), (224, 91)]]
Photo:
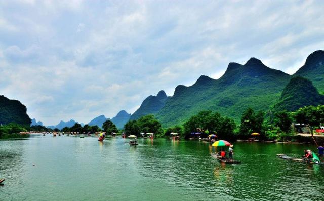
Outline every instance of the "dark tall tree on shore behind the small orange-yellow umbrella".
[(239, 135), (249, 136), (252, 133), (262, 133), (262, 125), (264, 121), (264, 114), (262, 111), (254, 113), (252, 108), (246, 109), (241, 117), (241, 125)]

